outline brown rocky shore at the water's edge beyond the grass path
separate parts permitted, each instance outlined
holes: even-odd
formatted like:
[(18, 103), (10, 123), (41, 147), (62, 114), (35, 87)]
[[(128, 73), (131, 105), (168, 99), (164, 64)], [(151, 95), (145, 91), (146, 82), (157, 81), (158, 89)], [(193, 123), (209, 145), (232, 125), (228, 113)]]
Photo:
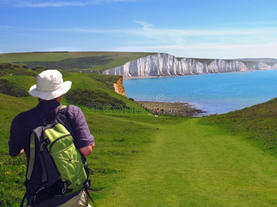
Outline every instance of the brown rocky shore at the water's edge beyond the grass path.
[(143, 106), (143, 108), (154, 113), (159, 108), (159, 115), (177, 115), (192, 117), (195, 115), (203, 115), (204, 111), (193, 108), (188, 103), (184, 102), (160, 102), (160, 101), (136, 101)]

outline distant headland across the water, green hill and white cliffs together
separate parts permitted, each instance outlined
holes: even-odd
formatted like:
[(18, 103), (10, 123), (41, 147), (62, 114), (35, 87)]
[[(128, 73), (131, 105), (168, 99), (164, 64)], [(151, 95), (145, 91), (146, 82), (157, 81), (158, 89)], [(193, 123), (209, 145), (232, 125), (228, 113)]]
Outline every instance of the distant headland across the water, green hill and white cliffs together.
[(277, 68), (277, 59), (199, 59), (155, 52), (23, 52), (0, 54), (0, 63), (123, 77), (193, 75)]

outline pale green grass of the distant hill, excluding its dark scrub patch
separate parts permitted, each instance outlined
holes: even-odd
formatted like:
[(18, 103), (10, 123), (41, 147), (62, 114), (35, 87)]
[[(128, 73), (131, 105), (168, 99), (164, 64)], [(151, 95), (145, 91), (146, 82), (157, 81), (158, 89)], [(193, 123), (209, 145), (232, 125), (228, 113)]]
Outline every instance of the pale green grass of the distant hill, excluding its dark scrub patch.
[[(127, 61), (139, 59), (148, 55), (152, 55), (152, 52), (24, 52), (24, 53), (6, 53), (0, 54), (0, 63), (19, 63), (28, 65), (26, 62), (36, 61), (36, 66), (45, 67), (44, 61), (61, 61), (66, 59), (73, 59), (77, 64), (80, 64), (78, 58), (83, 57), (105, 57), (104, 59), (111, 59), (107, 63), (95, 65), (93, 63), (82, 71), (90, 70), (107, 70), (109, 68), (115, 68), (121, 66)], [(66, 64), (66, 63), (64, 63)], [(82, 63), (81, 63), (82, 64)], [(69, 68), (72, 62), (69, 62)], [(48, 66), (48, 63), (47, 63)], [(53, 64), (52, 67), (54, 67)], [(57, 68), (60, 69), (60, 68)], [(78, 71), (79, 68), (71, 68), (69, 71)]]

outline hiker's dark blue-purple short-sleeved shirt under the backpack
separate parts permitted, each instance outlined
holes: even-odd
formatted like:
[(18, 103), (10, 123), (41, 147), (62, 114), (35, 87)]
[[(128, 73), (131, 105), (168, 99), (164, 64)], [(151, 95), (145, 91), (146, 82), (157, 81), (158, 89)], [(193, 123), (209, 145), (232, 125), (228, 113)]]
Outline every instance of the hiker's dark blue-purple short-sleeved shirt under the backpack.
[[(41, 101), (35, 108), (32, 108), (26, 112), (21, 112), (12, 121), (10, 128), (10, 141), (9, 150), (10, 156), (15, 157), (19, 155), (19, 152), (24, 149), (26, 157), (28, 159), (28, 144), (30, 139), (30, 133), (38, 126), (42, 126), (44, 119), (53, 120), (57, 115), (61, 104), (57, 101)], [(76, 148), (80, 149), (85, 146), (90, 146), (94, 143), (94, 137), (89, 132), (89, 126), (84, 118), (82, 110), (77, 106), (68, 106), (66, 117), (71, 124), (74, 135), (74, 143)], [(42, 169), (38, 160), (35, 161), (33, 169), (32, 182), (28, 183), (28, 191), (34, 192), (42, 181)], [(39, 206), (60, 206), (66, 201), (77, 195), (68, 195), (64, 197), (53, 197), (47, 201), (44, 201)]]

